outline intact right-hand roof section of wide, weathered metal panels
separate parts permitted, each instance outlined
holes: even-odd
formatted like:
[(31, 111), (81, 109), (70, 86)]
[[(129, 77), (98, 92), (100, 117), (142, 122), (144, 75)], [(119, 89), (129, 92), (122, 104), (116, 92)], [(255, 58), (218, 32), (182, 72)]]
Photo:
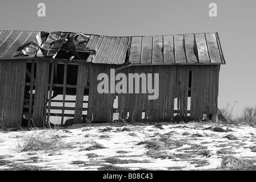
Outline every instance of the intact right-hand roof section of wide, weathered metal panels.
[(131, 64), (225, 64), (218, 33), (135, 36)]

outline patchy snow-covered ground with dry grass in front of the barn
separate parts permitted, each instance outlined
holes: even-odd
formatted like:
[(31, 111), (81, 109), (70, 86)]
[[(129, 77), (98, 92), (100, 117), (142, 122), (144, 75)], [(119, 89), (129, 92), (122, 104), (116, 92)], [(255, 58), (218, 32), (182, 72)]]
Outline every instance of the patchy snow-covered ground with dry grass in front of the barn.
[[(222, 127), (228, 132), (213, 131), (210, 126)], [(23, 138), (35, 133), (58, 135), (73, 148), (22, 150)], [(223, 138), (229, 134), (238, 140)], [(169, 143), (165, 143), (165, 139)], [(163, 143), (167, 148), (150, 148), (146, 145), (149, 141)], [(91, 150), (95, 144), (104, 148)], [(231, 155), (256, 165), (256, 152), (251, 150), (255, 146), (254, 127), (212, 122), (111, 122), (78, 124), (59, 130), (8, 129), (0, 131), (0, 170), (12, 169), (16, 164), (50, 170), (101, 170), (108, 165), (131, 170), (214, 170), (221, 168), (225, 156)], [(155, 155), (150, 155), (152, 152)]]

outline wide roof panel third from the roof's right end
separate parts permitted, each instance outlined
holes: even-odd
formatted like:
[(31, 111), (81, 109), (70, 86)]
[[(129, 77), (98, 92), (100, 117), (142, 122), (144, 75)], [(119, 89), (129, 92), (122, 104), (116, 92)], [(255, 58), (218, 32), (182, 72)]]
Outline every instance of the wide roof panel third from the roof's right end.
[(194, 51), (196, 49), (194, 42), (194, 34), (185, 34), (187, 63), (198, 63), (198, 59)]

